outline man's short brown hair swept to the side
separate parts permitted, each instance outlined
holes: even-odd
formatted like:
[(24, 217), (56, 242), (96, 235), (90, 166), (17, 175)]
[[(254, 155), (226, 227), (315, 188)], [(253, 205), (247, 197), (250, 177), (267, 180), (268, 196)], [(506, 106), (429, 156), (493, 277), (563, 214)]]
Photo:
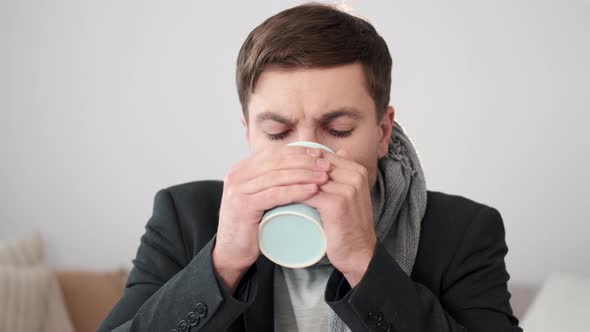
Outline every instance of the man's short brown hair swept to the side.
[(362, 18), (334, 6), (307, 3), (266, 19), (246, 38), (238, 54), (236, 84), (242, 112), (264, 69), (363, 65), (379, 121), (389, 105), (391, 55), (385, 40)]

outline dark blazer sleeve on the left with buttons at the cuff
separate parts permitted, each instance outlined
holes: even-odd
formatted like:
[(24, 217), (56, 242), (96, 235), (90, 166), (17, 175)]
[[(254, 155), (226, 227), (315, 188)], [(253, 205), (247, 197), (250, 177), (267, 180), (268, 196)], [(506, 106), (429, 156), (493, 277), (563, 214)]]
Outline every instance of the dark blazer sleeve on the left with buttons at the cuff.
[(171, 194), (160, 190), (141, 237), (125, 291), (98, 331), (222, 331), (253, 302), (256, 264), (235, 292), (216, 275), (216, 236), (189, 257)]

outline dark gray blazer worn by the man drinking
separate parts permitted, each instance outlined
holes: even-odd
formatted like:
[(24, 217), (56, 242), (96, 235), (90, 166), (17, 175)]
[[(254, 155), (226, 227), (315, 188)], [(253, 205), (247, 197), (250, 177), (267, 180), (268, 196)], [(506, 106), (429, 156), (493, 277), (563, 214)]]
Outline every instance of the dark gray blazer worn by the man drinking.
[[(211, 263), (223, 183), (160, 190), (123, 297), (99, 331), (273, 331), (274, 264), (260, 255), (231, 294)], [(428, 191), (411, 278), (378, 243), (351, 289), (334, 270), (325, 301), (356, 331), (522, 331), (495, 208)]]

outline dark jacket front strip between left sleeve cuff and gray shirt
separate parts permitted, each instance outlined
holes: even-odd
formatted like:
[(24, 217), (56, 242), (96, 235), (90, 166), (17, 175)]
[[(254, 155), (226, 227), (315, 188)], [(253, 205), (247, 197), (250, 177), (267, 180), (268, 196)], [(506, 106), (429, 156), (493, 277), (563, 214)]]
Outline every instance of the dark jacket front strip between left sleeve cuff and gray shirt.
[(262, 253), (258, 256), (258, 294), (244, 312), (247, 332), (274, 332), (274, 267), (275, 264)]

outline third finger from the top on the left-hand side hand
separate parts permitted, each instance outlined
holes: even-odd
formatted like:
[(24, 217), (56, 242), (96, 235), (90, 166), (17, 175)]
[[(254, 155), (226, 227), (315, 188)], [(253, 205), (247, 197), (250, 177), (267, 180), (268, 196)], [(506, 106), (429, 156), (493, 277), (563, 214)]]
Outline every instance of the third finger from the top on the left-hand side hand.
[(242, 194), (251, 195), (272, 187), (328, 181), (328, 173), (322, 170), (281, 169), (262, 174), (241, 186)]

